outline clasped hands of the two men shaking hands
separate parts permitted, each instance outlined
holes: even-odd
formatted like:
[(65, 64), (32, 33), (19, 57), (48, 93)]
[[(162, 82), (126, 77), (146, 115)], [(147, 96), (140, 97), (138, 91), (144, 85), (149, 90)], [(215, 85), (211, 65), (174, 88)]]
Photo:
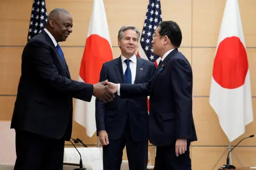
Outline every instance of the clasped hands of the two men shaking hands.
[(117, 88), (117, 84), (105, 80), (93, 85), (93, 95), (96, 99), (100, 99), (102, 102), (107, 103), (115, 98), (114, 93), (117, 92)]

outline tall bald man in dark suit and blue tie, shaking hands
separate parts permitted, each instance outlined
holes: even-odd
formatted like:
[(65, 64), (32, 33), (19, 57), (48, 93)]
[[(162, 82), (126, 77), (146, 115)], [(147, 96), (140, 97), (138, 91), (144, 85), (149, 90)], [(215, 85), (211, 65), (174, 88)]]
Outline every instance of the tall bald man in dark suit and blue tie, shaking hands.
[(72, 132), (72, 98), (90, 102), (94, 95), (106, 102), (114, 97), (104, 82), (71, 80), (58, 42), (72, 33), (72, 22), (66, 10), (52, 10), (45, 30), (24, 48), (11, 122), (16, 131), (15, 170), (62, 169), (64, 143)]

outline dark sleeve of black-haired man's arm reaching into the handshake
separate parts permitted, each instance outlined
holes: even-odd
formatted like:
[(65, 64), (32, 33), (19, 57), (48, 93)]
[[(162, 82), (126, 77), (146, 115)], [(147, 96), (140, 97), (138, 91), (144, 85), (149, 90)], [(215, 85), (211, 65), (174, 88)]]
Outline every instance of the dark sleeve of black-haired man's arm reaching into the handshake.
[(151, 79), (147, 83), (141, 84), (120, 84), (120, 98), (136, 98), (150, 95), (151, 81), (156, 71), (156, 65), (152, 65)]

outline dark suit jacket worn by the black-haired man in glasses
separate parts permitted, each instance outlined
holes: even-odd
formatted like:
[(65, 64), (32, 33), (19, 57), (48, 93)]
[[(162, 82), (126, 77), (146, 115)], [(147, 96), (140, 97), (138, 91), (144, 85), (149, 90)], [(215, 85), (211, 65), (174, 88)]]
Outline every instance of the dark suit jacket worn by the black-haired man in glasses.
[(149, 134), (156, 146), (177, 139), (197, 140), (192, 113), (193, 74), (187, 59), (176, 48), (158, 66), (148, 83), (120, 85), (121, 98), (150, 94)]

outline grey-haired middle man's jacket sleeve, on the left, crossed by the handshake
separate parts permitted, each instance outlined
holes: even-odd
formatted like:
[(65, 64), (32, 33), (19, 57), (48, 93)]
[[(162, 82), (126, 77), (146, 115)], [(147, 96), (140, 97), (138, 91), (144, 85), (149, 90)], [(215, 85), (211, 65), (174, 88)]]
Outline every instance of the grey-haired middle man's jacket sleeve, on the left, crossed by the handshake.
[[(105, 64), (103, 64), (100, 70), (99, 82), (105, 81), (106, 79), (108, 79), (108, 76), (106, 74)], [(105, 130), (105, 105), (99, 99), (96, 99), (95, 101), (95, 119), (98, 135), (100, 131)]]

